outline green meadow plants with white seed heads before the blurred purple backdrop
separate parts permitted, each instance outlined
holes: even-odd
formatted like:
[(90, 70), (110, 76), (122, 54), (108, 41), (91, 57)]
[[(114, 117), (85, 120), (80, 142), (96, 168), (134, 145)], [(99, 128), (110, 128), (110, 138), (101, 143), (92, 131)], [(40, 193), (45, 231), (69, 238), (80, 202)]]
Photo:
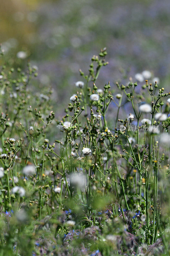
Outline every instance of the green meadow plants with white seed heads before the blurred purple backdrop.
[(168, 88), (149, 70), (102, 84), (103, 48), (59, 118), (25, 53), (24, 70), (0, 55), (0, 256), (169, 255)]

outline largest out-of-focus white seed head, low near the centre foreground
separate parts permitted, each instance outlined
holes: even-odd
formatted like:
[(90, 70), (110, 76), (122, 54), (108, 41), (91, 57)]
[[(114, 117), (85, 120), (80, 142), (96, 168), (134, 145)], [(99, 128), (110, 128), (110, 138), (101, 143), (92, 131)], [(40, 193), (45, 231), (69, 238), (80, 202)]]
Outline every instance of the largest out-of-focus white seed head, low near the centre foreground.
[(70, 175), (70, 185), (76, 186), (80, 189), (84, 189), (86, 187), (87, 179), (86, 176), (81, 172), (73, 172)]

